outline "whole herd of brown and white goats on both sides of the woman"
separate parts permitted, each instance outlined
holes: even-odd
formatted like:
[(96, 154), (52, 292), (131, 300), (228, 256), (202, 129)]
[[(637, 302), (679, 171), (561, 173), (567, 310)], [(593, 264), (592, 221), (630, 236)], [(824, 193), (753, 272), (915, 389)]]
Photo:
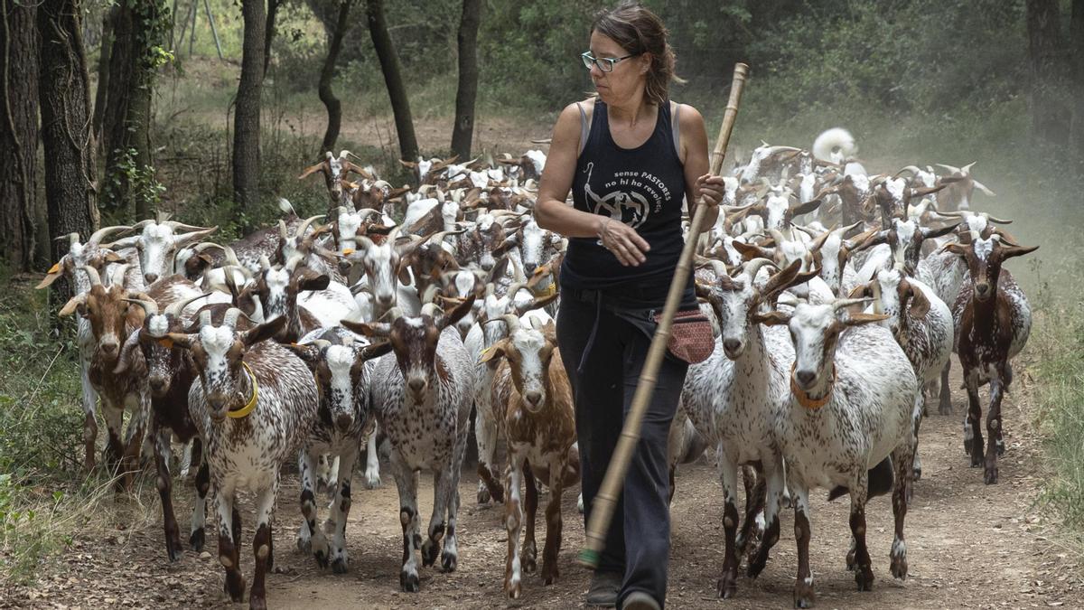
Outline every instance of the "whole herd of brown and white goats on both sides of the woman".
[[(757, 148), (725, 177), (724, 213), (697, 238), (696, 291), (715, 348), (689, 368), (669, 454), (673, 483), (678, 463), (717, 449), (723, 597), (736, 592), (739, 558), (748, 556), (750, 576), (763, 570), (789, 506), (795, 603), (812, 606), (815, 487), (850, 496), (847, 563), (863, 590), (874, 581), (865, 505), (891, 493), (891, 573), (906, 576), (903, 525), (921, 475), (925, 397), (952, 412), (954, 352), (968, 396), (964, 448), (985, 482), (997, 482), (1002, 398), (1031, 327), (1028, 301), (1003, 263), (1035, 249), (1001, 227), (1009, 220), (971, 209), (976, 189), (993, 194), (971, 165), (870, 175), (855, 152), (842, 129), (822, 134), (812, 150)], [(203, 548), (211, 499), (224, 592), (235, 601), (245, 593), (236, 494), (253, 492), (249, 603), (264, 608), (282, 466), (296, 460), (300, 473), (298, 549), (345, 572), (354, 462), (364, 456), (372, 487), (383, 461), (400, 498), (400, 586), (416, 592), (418, 551), (423, 565), (439, 558), (443, 571), (456, 568), (460, 471), (473, 421), (477, 501), (504, 504), (505, 593), (519, 597), (522, 574), (538, 569), (540, 485), (550, 494), (540, 575), (553, 583), (562, 494), (578, 482), (579, 454), (555, 347), (567, 240), (532, 218), (545, 155), (418, 160), (405, 164), (417, 187), (399, 189), (351, 158), (328, 152), (301, 174), (323, 175), (326, 216), (299, 218), (281, 200), (278, 227), (228, 245), (207, 241), (216, 228), (160, 217), (102, 228), (87, 241), (65, 238), (68, 253), (41, 287), (66, 277), (75, 293), (60, 315), (78, 314), (85, 468), (95, 466), (100, 401), (105, 466), (124, 490), (144, 459), (154, 460), (166, 552), (177, 560), (171, 445), (181, 443), (180, 473), (196, 472), (198, 496), (189, 544)], [(423, 469), (434, 475), (424, 541)], [(326, 523), (318, 520), (321, 485), (331, 499)]]

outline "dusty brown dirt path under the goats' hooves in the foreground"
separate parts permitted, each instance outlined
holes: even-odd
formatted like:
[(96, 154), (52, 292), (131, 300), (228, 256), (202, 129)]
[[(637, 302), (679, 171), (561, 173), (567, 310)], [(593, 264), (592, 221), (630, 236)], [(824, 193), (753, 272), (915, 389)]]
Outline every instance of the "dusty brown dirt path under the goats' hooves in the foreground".
[[(1027, 379), (1022, 376), (1022, 379)], [(959, 392), (956, 408), (962, 405)], [(1029, 414), (1023, 383), (1006, 410), (1008, 450), (1001, 466), (1002, 483), (982, 484), (980, 470), (968, 468), (958, 417), (933, 415), (922, 425), (924, 478), (916, 484), (907, 516), (911, 568), (905, 583), (888, 574), (891, 506), (887, 498), (868, 509), (869, 546), (877, 576), (870, 593), (855, 592), (844, 570), (849, 544), (846, 501), (827, 504), (824, 492), (813, 501), (813, 570), (818, 608), (1045, 608), (1084, 606), (1084, 581), (1071, 556), (1057, 546), (1057, 534), (1034, 506), (1042, 469), (1037, 440), (1024, 422)], [(273, 608), (493, 608), (506, 606), (502, 593), (506, 536), (501, 507), (476, 505), (476, 480), (461, 486), (460, 565), (452, 574), (422, 571), (422, 593), (398, 592), (401, 538), (398, 497), (390, 475), (382, 488), (356, 492), (348, 543), (350, 572), (320, 571), (294, 547), (298, 517), (296, 482), (288, 478), (280, 496), (275, 531), (276, 564), (268, 600)], [(423, 476), (423, 514), (431, 506), (431, 481)], [(357, 479), (356, 479), (357, 481)], [(180, 484), (177, 511), (186, 528), (190, 484)], [(743, 577), (738, 596), (715, 596), (722, 563), (719, 483), (714, 469), (701, 460), (682, 469), (673, 506), (673, 552), (669, 605), (672, 608), (789, 608), (796, 570), (791, 513), (784, 513), (783, 537), (767, 569), (756, 581)], [(149, 498), (154, 497), (150, 494)], [(157, 503), (156, 499), (153, 500)], [(547, 497), (542, 497), (542, 503)], [(573, 564), (583, 542), (576, 494), (565, 497), (565, 544), (562, 577), (544, 587), (529, 576), (517, 608), (582, 607), (588, 574)], [(165, 560), (159, 510), (133, 529), (125, 507), (102, 516), (102, 529), (79, 537), (59, 565), (43, 571), (38, 585), (0, 592), (0, 607), (132, 607), (192, 608), (229, 606), (221, 598), (222, 570), (211, 554), (188, 551), (177, 563)], [(250, 577), (251, 507), (245, 503), (244, 573)], [(321, 514), (325, 514), (322, 512)], [(112, 525), (111, 525), (112, 524)], [(540, 529), (542, 525), (540, 524)], [(209, 530), (212, 531), (212, 530)], [(1046, 533), (1050, 532), (1050, 533)], [(1047, 536), (1051, 537), (1047, 537)], [(541, 544), (541, 538), (540, 538)]]

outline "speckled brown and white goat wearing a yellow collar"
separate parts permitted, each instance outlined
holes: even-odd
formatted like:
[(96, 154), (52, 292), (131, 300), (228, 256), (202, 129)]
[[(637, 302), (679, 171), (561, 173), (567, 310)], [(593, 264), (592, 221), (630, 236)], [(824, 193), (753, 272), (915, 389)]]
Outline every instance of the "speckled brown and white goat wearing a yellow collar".
[[(177, 347), (192, 352), (199, 376), (189, 392), (189, 412), (205, 440), (206, 460), (218, 516), (218, 559), (225, 568), (224, 590), (233, 601), (245, 595), (241, 574), (241, 513), (236, 493), (256, 493), (256, 573), (250, 608), (267, 608), (264, 577), (274, 563), (272, 511), (279, 495), (279, 471), (297, 456), (317, 421), (317, 390), (300, 358), (273, 341), (285, 318), (249, 330), (237, 328), (240, 309), (229, 309), (222, 323), (199, 314), (195, 333), (171, 332)], [(301, 512), (310, 523), (315, 501), (301, 493)]]

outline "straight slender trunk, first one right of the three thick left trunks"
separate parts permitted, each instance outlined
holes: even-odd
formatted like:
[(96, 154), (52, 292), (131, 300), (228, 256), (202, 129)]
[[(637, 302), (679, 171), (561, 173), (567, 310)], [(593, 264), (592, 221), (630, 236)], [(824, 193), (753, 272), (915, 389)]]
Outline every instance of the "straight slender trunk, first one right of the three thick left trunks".
[(244, 0), (241, 11), (245, 34), (233, 115), (233, 198), (241, 204), (245, 224), (251, 224), (260, 203), (260, 90), (267, 14), (263, 0)]

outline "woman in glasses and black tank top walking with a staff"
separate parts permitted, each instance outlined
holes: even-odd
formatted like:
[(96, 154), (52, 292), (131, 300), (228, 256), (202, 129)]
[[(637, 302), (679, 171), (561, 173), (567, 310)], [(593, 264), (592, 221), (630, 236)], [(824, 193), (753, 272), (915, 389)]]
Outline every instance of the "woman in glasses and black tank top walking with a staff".
[[(620, 435), (684, 240), (682, 203), (718, 217), (696, 109), (671, 102), (674, 54), (662, 22), (635, 3), (596, 16), (583, 54), (597, 96), (554, 127), (534, 212), (570, 238), (557, 342), (575, 392), (585, 518)], [(565, 204), (569, 189), (573, 206)], [(682, 310), (695, 309), (693, 279)], [(687, 364), (668, 354), (592, 579), (588, 603), (661, 608), (670, 552), (667, 435)]]

